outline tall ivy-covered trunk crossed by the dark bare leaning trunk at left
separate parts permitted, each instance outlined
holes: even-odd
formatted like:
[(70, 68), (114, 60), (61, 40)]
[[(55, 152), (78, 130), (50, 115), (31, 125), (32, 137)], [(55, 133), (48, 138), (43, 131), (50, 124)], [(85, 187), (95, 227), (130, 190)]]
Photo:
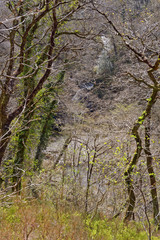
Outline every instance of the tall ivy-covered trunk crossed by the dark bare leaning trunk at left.
[[(25, 29), (25, 26), (23, 26), (22, 24), (22, 31), (23, 29)], [(38, 29), (38, 24), (35, 24), (35, 26), (31, 29), (31, 32), (27, 37), (26, 49), (28, 50), (26, 50), (26, 53), (24, 55), (24, 65), (25, 65), (24, 76), (26, 76), (30, 71), (32, 71), (30, 58), (33, 57), (34, 53), (31, 46), (32, 46), (32, 41), (37, 29)], [(34, 87), (35, 87), (34, 75), (32, 76), (32, 78), (23, 79), (24, 99), (27, 99), (27, 97), (32, 93)], [(12, 182), (13, 182), (12, 190), (16, 191), (18, 194), (20, 193), (20, 190), (21, 190), (21, 177), (24, 171), (23, 165), (25, 160), (25, 149), (26, 149), (27, 139), (28, 139), (29, 131), (31, 127), (31, 119), (34, 114), (33, 106), (34, 106), (33, 100), (26, 105), (22, 124), (21, 124), (22, 130), (18, 134), (17, 153), (14, 159), (13, 178), (12, 178)]]

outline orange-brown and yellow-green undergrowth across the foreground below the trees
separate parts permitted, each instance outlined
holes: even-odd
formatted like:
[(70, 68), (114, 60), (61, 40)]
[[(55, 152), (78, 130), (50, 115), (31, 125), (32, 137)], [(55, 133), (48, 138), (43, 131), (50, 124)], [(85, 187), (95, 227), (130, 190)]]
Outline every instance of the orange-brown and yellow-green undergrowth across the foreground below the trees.
[[(94, 218), (76, 209), (41, 199), (13, 196), (0, 207), (1, 240), (147, 240), (143, 226), (124, 224), (98, 213)], [(155, 233), (152, 240), (160, 239)]]

